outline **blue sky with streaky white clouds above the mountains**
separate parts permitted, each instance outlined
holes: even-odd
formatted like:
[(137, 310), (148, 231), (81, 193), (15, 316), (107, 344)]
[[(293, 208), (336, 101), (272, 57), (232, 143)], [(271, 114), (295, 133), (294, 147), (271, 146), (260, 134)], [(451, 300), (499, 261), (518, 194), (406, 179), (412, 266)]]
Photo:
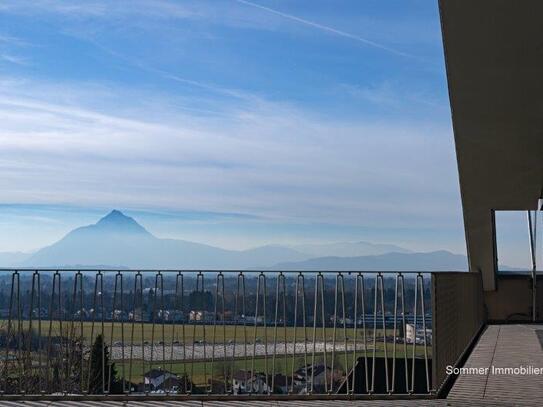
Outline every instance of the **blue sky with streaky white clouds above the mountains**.
[(435, 1), (2, 1), (0, 171), (0, 251), (117, 208), (465, 252)]

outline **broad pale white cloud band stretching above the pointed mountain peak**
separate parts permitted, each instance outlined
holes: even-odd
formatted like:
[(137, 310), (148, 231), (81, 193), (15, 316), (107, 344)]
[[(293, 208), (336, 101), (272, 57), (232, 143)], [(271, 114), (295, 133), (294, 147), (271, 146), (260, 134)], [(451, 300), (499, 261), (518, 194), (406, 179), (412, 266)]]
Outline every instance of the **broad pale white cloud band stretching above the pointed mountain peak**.
[(384, 227), (458, 220), (445, 126), (334, 122), (260, 98), (210, 116), (152, 94), (110, 92), (4, 87), (0, 200)]

